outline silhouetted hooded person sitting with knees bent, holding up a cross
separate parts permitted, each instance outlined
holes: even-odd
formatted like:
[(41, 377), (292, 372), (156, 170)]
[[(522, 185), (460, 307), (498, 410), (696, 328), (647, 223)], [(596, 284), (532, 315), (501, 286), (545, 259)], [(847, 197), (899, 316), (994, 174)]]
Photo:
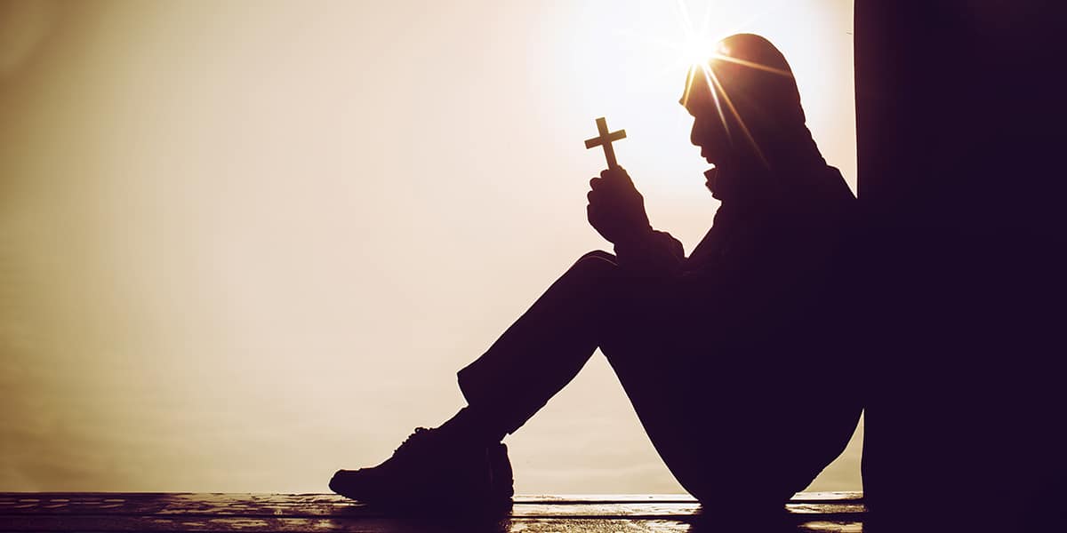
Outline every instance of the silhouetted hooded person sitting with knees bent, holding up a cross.
[(805, 126), (782, 54), (748, 34), (720, 51), (682, 100), (721, 200), (690, 256), (652, 228), (625, 171), (602, 172), (588, 219), (615, 254), (582, 256), (459, 372), (466, 407), (382, 465), (338, 471), (333, 490), (408, 506), (509, 501), (500, 440), (598, 348), (701, 501), (780, 508), (840, 454), (859, 416), (839, 360), (837, 272), (855, 198)]

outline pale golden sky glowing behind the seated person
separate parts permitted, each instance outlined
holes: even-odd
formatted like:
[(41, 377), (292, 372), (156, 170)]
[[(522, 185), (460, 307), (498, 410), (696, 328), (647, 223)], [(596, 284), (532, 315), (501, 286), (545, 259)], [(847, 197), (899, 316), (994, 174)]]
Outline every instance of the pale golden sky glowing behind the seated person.
[[(324, 491), (384, 459), (609, 246), (595, 117), (691, 249), (683, 12), (785, 53), (855, 190), (850, 1), (0, 0), (0, 490)], [(507, 442), (520, 492), (681, 490), (600, 356)]]

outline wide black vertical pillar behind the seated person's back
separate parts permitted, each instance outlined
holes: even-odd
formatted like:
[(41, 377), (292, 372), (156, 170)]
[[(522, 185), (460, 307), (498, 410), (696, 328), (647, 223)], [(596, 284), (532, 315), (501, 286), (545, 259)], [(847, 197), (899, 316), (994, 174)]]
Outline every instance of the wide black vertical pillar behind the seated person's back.
[(876, 512), (1039, 519), (1067, 485), (1065, 7), (855, 7), (864, 490)]

